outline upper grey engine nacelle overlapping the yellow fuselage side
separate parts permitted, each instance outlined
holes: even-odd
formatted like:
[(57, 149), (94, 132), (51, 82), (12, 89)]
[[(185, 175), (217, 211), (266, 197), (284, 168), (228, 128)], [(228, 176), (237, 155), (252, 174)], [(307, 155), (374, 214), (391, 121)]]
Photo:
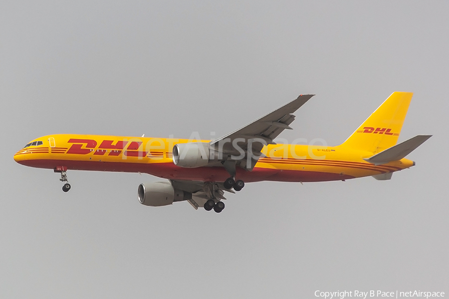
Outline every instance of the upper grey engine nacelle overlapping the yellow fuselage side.
[(173, 147), (173, 162), (186, 168), (206, 166), (209, 163), (209, 144), (177, 144)]

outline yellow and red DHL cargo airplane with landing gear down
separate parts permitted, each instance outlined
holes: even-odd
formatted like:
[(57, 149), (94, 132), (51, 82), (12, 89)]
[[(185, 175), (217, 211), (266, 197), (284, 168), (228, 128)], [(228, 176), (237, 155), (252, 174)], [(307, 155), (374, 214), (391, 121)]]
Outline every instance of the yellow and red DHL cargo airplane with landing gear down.
[(314, 95), (300, 95), (217, 140), (55, 134), (37, 138), (14, 154), (20, 164), (60, 173), (67, 192), (68, 170), (148, 173), (165, 181), (142, 183), (138, 200), (147, 206), (188, 201), (220, 213), (225, 192), (258, 181), (322, 182), (393, 172), (415, 162), (405, 157), (432, 135), (397, 144), (413, 93), (394, 92), (341, 145), (276, 144), (292, 129), (293, 113)]

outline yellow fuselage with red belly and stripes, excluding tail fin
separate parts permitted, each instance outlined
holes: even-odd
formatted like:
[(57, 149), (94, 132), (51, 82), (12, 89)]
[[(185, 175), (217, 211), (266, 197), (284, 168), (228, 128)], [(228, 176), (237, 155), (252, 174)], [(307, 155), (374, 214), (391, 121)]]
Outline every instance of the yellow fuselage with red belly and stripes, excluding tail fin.
[[(35, 142), (35, 145), (32, 145)], [(41, 145), (37, 145), (41, 142)], [(165, 138), (101, 135), (49, 135), (31, 142), (14, 155), (20, 164), (68, 170), (143, 172), (167, 179), (223, 182), (224, 167), (182, 168), (172, 159), (175, 144), (192, 142)], [(208, 142), (208, 141), (201, 141)], [(39, 143), (40, 144), (40, 143)], [(341, 146), (268, 145), (252, 171), (237, 168), (236, 178), (251, 181), (330, 181), (383, 174), (409, 168), (408, 159), (373, 165), (363, 158), (373, 152)]]

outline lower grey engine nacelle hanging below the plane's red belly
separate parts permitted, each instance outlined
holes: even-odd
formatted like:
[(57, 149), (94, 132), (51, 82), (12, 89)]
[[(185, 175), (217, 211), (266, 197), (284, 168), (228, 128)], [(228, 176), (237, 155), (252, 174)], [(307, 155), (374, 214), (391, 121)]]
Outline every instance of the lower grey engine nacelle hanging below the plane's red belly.
[(192, 198), (192, 193), (173, 188), (167, 181), (143, 183), (137, 190), (137, 198), (143, 205), (160, 207)]

